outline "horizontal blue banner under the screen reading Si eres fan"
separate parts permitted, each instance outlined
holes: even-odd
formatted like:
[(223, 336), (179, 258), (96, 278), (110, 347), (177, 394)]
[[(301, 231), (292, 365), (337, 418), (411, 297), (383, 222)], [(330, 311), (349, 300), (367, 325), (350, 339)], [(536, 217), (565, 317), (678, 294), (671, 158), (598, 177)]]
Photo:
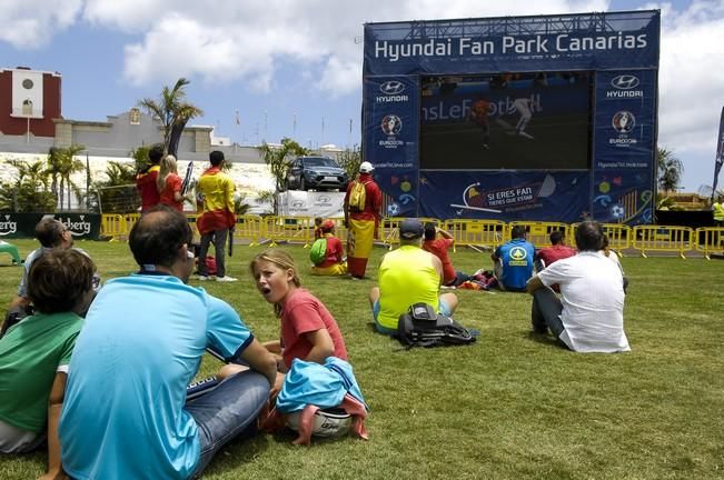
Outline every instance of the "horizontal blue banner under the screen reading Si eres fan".
[(420, 173), (420, 217), (577, 222), (591, 213), (588, 172)]

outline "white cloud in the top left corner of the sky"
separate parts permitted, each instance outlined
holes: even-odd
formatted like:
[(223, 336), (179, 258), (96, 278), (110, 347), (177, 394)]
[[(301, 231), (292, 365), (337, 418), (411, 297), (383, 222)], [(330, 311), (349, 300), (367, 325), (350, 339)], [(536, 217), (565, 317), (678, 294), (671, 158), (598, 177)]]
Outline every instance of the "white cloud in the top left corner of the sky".
[(81, 6), (81, 0), (0, 1), (0, 41), (17, 49), (43, 47), (76, 21)]

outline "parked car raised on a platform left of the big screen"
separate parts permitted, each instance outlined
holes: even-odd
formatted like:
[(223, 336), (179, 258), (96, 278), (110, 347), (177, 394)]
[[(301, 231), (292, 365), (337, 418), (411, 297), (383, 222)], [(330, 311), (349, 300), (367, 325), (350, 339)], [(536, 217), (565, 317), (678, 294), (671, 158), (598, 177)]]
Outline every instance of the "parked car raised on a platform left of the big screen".
[(326, 157), (299, 157), (287, 172), (287, 190), (345, 190), (347, 173)]

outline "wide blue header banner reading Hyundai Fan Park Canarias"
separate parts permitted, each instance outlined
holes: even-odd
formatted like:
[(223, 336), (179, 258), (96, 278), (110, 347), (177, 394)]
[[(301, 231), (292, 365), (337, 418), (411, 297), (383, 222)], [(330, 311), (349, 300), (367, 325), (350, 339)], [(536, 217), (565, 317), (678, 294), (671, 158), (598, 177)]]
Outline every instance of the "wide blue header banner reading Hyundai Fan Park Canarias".
[(657, 68), (657, 10), (365, 26), (365, 74)]

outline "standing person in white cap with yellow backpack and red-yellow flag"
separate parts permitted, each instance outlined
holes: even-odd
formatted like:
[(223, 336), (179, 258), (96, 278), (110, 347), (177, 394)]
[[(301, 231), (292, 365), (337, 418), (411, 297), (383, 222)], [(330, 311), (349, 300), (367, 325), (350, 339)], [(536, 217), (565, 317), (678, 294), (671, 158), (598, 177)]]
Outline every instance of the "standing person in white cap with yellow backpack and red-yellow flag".
[[(349, 182), (345, 194), (345, 227), (347, 236), (347, 267), (353, 279), (361, 279), (367, 270), (367, 260), (373, 251), (375, 231), (379, 223), (383, 193), (373, 180), (375, 168), (368, 161), (359, 166), (359, 177)], [(357, 183), (365, 187), (365, 208), (350, 204), (350, 197)]]

